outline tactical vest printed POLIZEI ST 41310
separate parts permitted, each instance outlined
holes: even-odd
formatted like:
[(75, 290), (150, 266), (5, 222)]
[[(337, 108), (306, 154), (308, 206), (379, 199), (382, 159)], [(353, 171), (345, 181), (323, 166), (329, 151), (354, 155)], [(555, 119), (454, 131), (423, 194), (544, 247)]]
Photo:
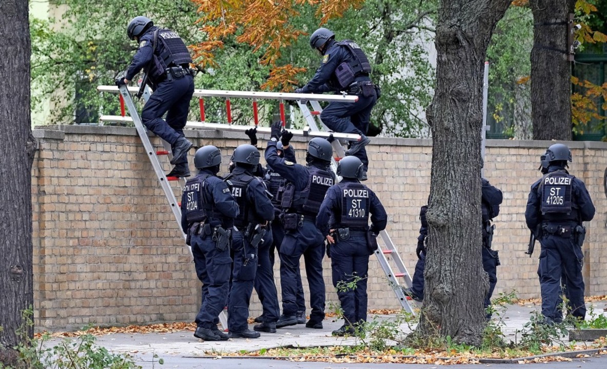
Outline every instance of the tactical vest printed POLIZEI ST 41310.
[(367, 186), (355, 182), (340, 183), (338, 186), (341, 191), (341, 225), (367, 230), (371, 191)]

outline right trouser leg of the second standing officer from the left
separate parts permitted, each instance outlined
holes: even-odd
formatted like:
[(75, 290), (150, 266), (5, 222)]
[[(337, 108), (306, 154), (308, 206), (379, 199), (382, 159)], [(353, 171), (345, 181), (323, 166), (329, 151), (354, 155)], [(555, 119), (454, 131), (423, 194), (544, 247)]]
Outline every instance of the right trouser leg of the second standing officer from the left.
[(273, 244), (271, 229), (268, 229), (263, 242), (259, 246), (257, 254), (257, 273), (255, 274), (255, 291), (262, 303), (263, 319), (266, 322), (274, 323), (280, 315), (280, 306), (278, 304), (278, 294), (276, 284), (274, 284), (274, 267), (270, 262), (270, 247)]

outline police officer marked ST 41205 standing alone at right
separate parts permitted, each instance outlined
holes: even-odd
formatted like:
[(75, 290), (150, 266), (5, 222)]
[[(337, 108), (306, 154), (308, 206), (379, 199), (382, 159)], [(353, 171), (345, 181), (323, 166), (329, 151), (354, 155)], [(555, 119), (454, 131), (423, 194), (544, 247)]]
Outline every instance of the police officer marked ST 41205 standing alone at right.
[(595, 208), (584, 182), (569, 174), (571, 150), (554, 144), (546, 151), (548, 173), (531, 185), (525, 220), (540, 241), (538, 276), (541, 286), (541, 313), (546, 324), (562, 319), (559, 306), (561, 272), (566, 274), (569, 313), (586, 316), (582, 244), (586, 228), (582, 222), (594, 218)]

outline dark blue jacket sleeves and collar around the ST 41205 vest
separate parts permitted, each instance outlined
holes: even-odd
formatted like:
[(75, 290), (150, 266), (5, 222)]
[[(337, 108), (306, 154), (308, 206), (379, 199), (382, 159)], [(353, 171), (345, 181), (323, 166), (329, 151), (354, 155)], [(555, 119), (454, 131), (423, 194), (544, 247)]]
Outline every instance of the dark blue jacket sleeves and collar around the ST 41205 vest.
[[(551, 165), (548, 167), (548, 173), (553, 171), (563, 170), (565, 168)], [(527, 208), (525, 210), (525, 221), (527, 227), (535, 233), (537, 226), (542, 222), (541, 214), (541, 193), (539, 193), (541, 179), (531, 185), (531, 191), (529, 192), (529, 198), (527, 199)], [(581, 179), (577, 177), (573, 179), (572, 183), (572, 194), (571, 202), (575, 206), (573, 211), (578, 212), (578, 219), (582, 222), (591, 221), (594, 218), (595, 208), (592, 204), (592, 199), (586, 185)], [(536, 235), (537, 236), (537, 235)]]

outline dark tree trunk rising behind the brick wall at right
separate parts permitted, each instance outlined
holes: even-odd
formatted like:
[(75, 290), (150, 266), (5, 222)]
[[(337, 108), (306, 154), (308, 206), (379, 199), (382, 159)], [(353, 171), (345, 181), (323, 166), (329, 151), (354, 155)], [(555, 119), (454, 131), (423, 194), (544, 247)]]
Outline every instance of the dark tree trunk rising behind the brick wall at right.
[(566, 22), (575, 0), (530, 0), (529, 5), (535, 23), (531, 50), (533, 138), (571, 141), (571, 62)]

